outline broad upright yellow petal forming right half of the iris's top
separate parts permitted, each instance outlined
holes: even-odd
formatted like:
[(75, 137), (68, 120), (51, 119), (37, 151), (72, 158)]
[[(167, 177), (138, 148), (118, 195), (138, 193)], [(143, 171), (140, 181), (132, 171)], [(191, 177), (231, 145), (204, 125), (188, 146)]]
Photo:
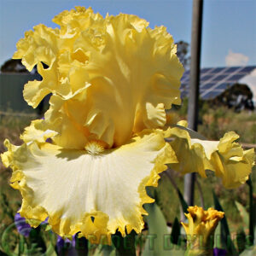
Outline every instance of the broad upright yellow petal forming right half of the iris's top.
[(146, 22), (136, 26), (138, 21), (132, 15), (110, 16), (105, 27), (82, 32), (74, 44), (90, 53), (85, 67), (92, 84), (90, 114), (84, 125), (110, 146), (125, 143), (132, 132), (162, 127), (164, 109), (180, 101), (183, 67), (172, 36)]

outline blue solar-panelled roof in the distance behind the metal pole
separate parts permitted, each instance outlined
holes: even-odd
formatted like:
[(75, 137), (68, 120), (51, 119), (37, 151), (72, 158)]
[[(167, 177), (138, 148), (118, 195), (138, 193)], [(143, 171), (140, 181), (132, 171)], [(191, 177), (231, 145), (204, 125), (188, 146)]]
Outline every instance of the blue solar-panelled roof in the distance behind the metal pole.
[[(253, 73), (256, 66), (247, 67), (207, 67), (200, 71), (200, 96), (203, 100), (210, 100), (230, 88), (233, 84)], [(241, 83), (241, 82), (240, 82)], [(256, 86), (256, 84), (255, 84)], [(256, 92), (256, 91), (255, 91)], [(181, 96), (189, 96), (189, 70), (181, 79)], [(256, 97), (256, 93), (253, 94)]]

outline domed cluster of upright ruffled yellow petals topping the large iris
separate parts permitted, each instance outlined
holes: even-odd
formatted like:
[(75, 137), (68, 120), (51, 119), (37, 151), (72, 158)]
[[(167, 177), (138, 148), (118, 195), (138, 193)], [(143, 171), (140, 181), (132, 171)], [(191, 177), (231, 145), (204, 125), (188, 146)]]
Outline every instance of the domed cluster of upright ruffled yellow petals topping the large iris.
[[(14, 58), (22, 58), (29, 70), (38, 65), (43, 78), (26, 84), (29, 105), (36, 108), (49, 93), (61, 97), (55, 107), (61, 141), (79, 127), (78, 133), (88, 130), (112, 148), (126, 143), (134, 132), (166, 124), (165, 109), (180, 103), (183, 67), (165, 27), (151, 29), (135, 15), (103, 19), (82, 7), (64, 11), (54, 21), (60, 29), (38, 25), (26, 32)], [(79, 122), (73, 122), (79, 115), (73, 113), (73, 104), (86, 109)], [(62, 132), (67, 123), (73, 127)], [(87, 138), (81, 141), (85, 146)]]

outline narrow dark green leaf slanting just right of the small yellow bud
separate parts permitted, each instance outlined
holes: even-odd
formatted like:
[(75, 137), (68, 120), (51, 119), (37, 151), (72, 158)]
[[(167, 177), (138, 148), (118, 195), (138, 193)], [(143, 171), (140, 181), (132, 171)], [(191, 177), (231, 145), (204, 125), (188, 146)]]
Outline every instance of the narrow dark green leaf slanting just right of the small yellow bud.
[[(215, 209), (220, 212), (224, 212), (223, 208), (221, 207), (220, 202), (218, 201), (217, 195), (214, 193), (214, 190), (212, 190), (212, 195), (213, 195)], [(231, 255), (238, 255), (238, 253), (236, 252), (236, 247), (234, 246), (234, 243), (231, 240), (230, 229), (229, 229), (229, 225), (228, 225), (227, 218), (225, 217), (225, 215), (224, 215), (224, 218), (222, 218), (222, 220), (220, 221), (220, 224), (221, 224), (221, 226), (220, 226), (221, 241), (222, 241), (224, 248), (226, 248), (228, 250), (228, 252), (231, 253)]]

